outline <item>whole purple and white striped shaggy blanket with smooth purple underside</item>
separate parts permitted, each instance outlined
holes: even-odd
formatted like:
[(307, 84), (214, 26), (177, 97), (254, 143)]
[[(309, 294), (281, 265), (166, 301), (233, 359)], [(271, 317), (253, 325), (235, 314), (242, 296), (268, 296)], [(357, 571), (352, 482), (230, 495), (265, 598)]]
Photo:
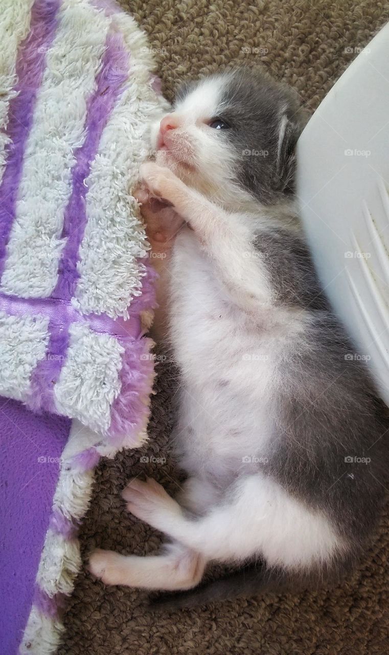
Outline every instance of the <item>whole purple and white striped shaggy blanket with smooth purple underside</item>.
[(2, 0), (0, 37), (0, 652), (44, 655), (93, 467), (146, 438), (153, 274), (131, 189), (165, 102), (112, 3)]

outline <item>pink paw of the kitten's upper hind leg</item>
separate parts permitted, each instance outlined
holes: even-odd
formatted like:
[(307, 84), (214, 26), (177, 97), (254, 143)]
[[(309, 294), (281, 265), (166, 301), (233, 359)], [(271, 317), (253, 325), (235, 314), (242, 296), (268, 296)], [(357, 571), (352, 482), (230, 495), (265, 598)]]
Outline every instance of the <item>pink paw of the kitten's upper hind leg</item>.
[(151, 477), (146, 482), (137, 477), (129, 481), (122, 491), (122, 497), (127, 501), (127, 510), (131, 514), (161, 532), (171, 515), (181, 514), (178, 503)]

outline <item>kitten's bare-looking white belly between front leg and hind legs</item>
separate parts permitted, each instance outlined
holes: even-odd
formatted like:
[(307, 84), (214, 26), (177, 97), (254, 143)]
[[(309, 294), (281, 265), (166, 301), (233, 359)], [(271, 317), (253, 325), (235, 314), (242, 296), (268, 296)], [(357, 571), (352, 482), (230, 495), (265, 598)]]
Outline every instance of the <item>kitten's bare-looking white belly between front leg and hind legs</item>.
[(170, 288), (180, 368), (178, 455), (188, 472), (222, 481), (235, 477), (245, 458), (265, 458), (274, 361), (258, 326), (229, 302), (193, 234), (175, 242)]

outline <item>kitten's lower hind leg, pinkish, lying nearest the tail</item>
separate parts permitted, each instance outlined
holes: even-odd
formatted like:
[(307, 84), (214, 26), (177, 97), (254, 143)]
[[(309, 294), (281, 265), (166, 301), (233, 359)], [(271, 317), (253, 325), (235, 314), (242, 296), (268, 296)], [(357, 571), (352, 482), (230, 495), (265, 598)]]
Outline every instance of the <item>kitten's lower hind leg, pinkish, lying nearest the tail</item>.
[(89, 562), (90, 571), (105, 584), (167, 591), (196, 586), (204, 568), (205, 559), (181, 544), (168, 544), (165, 553), (148, 557), (95, 550)]

